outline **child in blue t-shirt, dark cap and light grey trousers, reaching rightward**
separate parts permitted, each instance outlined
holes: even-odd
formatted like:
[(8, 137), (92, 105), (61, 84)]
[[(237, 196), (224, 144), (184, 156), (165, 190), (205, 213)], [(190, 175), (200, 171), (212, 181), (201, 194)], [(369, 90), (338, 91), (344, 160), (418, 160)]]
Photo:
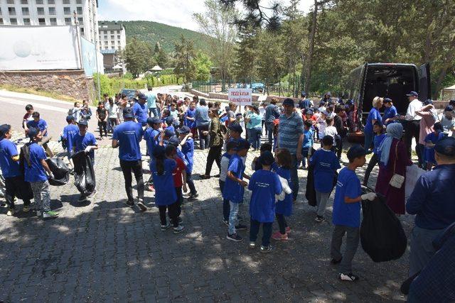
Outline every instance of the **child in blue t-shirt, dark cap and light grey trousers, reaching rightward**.
[(246, 226), (238, 225), (237, 215), (239, 212), (239, 204), (243, 202), (243, 194), (245, 192), (244, 187), (248, 183), (243, 179), (250, 179), (248, 175), (245, 175), (245, 164), (243, 163), (242, 157), (246, 157), (250, 143), (247, 141), (240, 141), (237, 145), (237, 153), (231, 155), (229, 160), (228, 173), (226, 174), (225, 187), (223, 189), (223, 198), (229, 200), (230, 213), (229, 213), (229, 229), (228, 229), (228, 240), (242, 241), (236, 230), (246, 229)]

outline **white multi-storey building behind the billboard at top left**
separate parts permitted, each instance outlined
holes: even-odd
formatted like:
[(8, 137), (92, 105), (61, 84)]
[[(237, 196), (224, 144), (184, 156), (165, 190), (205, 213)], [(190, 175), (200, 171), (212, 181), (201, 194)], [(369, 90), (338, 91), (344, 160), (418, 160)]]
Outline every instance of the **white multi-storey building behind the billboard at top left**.
[(0, 0), (0, 24), (11, 26), (75, 25), (92, 43), (98, 37), (97, 0)]

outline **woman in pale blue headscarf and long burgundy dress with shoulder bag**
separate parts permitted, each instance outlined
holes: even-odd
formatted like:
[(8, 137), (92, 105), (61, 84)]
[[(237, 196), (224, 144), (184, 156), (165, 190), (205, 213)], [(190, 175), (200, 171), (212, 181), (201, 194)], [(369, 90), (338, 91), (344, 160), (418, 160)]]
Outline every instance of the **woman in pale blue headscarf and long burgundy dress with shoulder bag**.
[[(379, 148), (381, 157), (375, 189), (375, 192), (385, 196), (386, 204), (395, 214), (405, 214), (406, 167), (412, 165), (412, 161), (407, 157), (406, 145), (401, 141), (402, 136), (401, 123), (391, 123), (387, 126), (387, 137)], [(400, 188), (390, 185), (394, 174), (405, 177), (405, 182)]]

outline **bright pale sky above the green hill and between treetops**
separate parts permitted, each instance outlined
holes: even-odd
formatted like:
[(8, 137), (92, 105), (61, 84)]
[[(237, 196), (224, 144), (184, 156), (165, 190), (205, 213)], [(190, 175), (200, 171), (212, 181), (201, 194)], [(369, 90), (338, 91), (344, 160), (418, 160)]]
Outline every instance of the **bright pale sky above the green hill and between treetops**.
[[(262, 0), (267, 6), (268, 0)], [(308, 12), (313, 0), (300, 0), (299, 9)], [(289, 0), (282, 0), (286, 6)], [(198, 31), (191, 20), (193, 13), (204, 11), (204, 0), (100, 0), (99, 21), (154, 21)]]

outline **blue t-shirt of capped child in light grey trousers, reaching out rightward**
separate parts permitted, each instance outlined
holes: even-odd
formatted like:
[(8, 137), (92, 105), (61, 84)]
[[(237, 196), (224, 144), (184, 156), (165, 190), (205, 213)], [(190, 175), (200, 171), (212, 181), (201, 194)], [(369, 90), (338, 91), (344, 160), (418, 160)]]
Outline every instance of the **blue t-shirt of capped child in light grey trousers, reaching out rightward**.
[[(232, 175), (242, 180), (243, 172), (245, 171), (245, 165), (243, 165), (242, 158), (239, 155), (234, 154), (230, 156), (228, 172), (232, 172)], [(233, 203), (243, 202), (243, 193), (245, 192), (244, 187), (239, 183), (230, 180), (230, 177), (226, 177), (225, 187), (223, 189), (223, 198), (228, 199)]]

